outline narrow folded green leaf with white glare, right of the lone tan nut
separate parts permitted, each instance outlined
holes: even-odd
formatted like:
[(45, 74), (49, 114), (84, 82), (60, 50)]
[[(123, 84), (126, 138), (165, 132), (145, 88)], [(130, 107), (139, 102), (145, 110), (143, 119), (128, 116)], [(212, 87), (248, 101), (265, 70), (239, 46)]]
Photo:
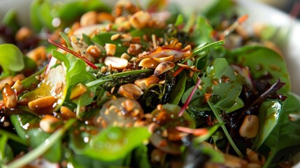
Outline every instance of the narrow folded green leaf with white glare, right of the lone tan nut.
[(262, 103), (259, 109), (259, 133), (255, 139), (252, 149), (257, 149), (264, 143), (273, 128), (278, 124), (282, 104), (278, 100), (269, 100)]

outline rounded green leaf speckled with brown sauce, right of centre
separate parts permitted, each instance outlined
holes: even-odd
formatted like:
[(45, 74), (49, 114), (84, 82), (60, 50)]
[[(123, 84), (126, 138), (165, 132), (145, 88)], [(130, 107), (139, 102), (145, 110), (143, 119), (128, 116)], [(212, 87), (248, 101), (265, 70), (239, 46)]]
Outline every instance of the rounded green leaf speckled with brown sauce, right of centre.
[[(234, 69), (229, 66), (224, 58), (215, 59), (207, 68), (206, 76), (201, 77), (203, 92), (211, 94), (210, 102), (214, 106), (226, 113), (243, 107), (243, 102), (239, 98), (242, 90), (241, 79), (236, 76)], [(191, 88), (183, 94), (181, 101), (184, 103), (190, 95)], [(202, 99), (201, 99), (202, 97)], [(203, 94), (199, 90), (195, 92), (191, 104), (199, 104), (203, 101)], [(199, 102), (199, 100), (201, 102)]]

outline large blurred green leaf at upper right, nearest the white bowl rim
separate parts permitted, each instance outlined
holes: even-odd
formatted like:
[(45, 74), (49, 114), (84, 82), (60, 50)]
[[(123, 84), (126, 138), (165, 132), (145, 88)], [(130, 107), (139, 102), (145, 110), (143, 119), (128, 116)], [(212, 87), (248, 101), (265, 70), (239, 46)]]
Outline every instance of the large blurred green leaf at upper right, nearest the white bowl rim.
[(290, 92), (290, 75), (284, 58), (276, 51), (262, 45), (246, 45), (229, 53), (232, 63), (248, 66), (252, 78), (260, 78), (271, 74), (270, 83), (275, 83), (278, 78), (286, 85), (279, 92)]

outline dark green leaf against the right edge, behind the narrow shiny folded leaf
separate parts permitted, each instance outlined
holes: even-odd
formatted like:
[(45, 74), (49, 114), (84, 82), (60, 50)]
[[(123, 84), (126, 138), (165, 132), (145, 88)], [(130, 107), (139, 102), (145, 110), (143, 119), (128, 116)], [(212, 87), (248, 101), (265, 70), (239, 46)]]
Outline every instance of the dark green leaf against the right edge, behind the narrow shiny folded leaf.
[[(264, 145), (271, 148), (269, 158), (266, 160), (264, 167), (271, 167), (272, 162), (272, 165), (282, 162), (282, 160), (273, 160), (278, 151), (290, 146), (300, 145), (300, 120), (291, 121), (289, 118), (290, 113), (300, 113), (300, 98), (292, 93), (288, 94), (287, 99), (283, 102), (283, 111), (280, 113), (278, 125), (264, 141)], [(288, 155), (289, 153), (280, 154)]]

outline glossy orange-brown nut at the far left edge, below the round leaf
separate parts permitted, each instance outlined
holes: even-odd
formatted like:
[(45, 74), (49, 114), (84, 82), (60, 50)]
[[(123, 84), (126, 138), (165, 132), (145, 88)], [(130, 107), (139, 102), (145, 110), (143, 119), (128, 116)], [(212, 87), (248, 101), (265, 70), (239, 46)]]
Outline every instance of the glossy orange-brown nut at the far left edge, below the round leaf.
[(14, 108), (17, 106), (17, 97), (15, 96), (15, 92), (7, 83), (4, 85), (2, 89), (3, 102), (7, 108)]

